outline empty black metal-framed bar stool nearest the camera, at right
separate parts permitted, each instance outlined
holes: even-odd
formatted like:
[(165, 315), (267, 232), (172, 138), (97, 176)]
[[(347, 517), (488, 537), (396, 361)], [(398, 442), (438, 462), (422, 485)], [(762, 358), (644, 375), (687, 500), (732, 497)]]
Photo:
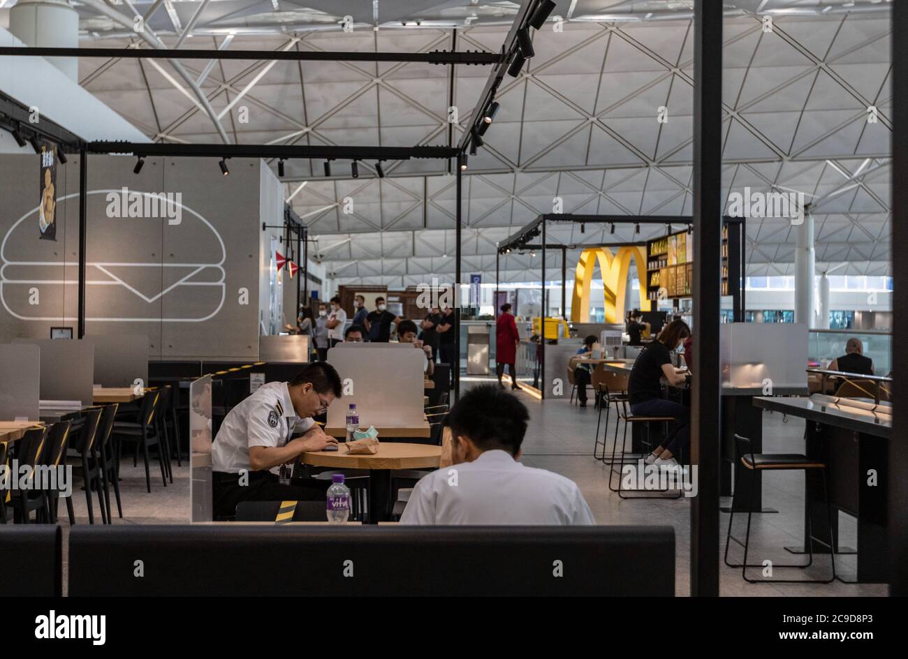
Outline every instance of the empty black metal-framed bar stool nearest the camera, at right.
[[(740, 567), (741, 576), (748, 584), (829, 584), (835, 580), (835, 540), (833, 537), (833, 516), (829, 507), (829, 491), (826, 487), (826, 466), (822, 462), (817, 462), (807, 456), (801, 455), (799, 453), (754, 453), (754, 445), (748, 438), (741, 437), (735, 433), (735, 462), (740, 461), (742, 465), (747, 469), (751, 469), (754, 473), (751, 475), (750, 480), (750, 495), (748, 501), (754, 500), (754, 486), (756, 483), (756, 470), (761, 471), (791, 471), (793, 469), (804, 470), (804, 477), (807, 476), (808, 469), (819, 469), (820, 473), (823, 475), (823, 497), (826, 503), (826, 518), (827, 524), (829, 526), (829, 551), (830, 558), (832, 559), (833, 564), (833, 575), (829, 579), (748, 579), (747, 578), (747, 568), (748, 567), (763, 567), (763, 564), (760, 563), (747, 563), (747, 549), (750, 545), (750, 520), (753, 515), (753, 511), (747, 511), (747, 533), (745, 535), (745, 541), (742, 543), (736, 537), (732, 536), (732, 521), (735, 519), (735, 500), (732, 501), (732, 512), (728, 516), (728, 534), (725, 536), (725, 565), (729, 567)], [(735, 483), (735, 497), (738, 495), (738, 490), (740, 489), (739, 483)], [(744, 547), (744, 562), (743, 563), (729, 563), (728, 562), (728, 546), (731, 544), (731, 541), (734, 540), (738, 545)], [(821, 540), (817, 542), (823, 543)], [(811, 528), (811, 519), (810, 516), (807, 516), (807, 537), (804, 538), (804, 544), (807, 546), (807, 551), (810, 555), (809, 560), (804, 565), (794, 565), (794, 564), (785, 564), (785, 565), (776, 565), (773, 564), (773, 567), (797, 567), (799, 569), (804, 569), (805, 567), (810, 567), (814, 563), (814, 533)]]

